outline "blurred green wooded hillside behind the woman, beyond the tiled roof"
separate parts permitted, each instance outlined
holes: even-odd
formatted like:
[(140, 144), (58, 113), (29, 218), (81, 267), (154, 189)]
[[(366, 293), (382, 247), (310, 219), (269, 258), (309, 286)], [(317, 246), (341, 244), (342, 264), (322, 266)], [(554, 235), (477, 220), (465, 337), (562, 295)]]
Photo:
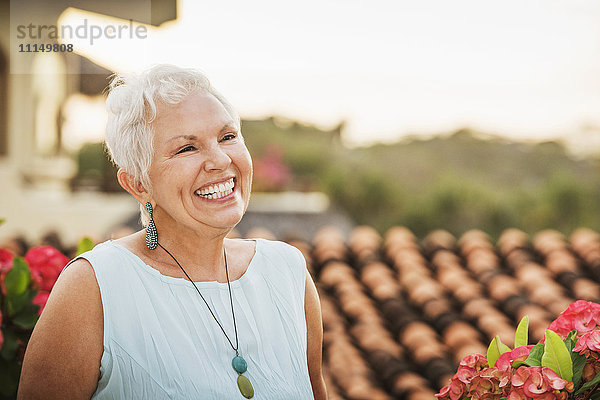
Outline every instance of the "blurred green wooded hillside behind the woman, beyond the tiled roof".
[[(600, 174), (595, 159), (576, 160), (555, 142), (515, 143), (463, 129), (427, 140), (347, 148), (340, 125), (330, 130), (283, 118), (243, 121), (254, 160), (282, 150), (292, 179), (279, 190), (318, 190), (358, 224), (380, 232), (403, 225), (417, 236), (433, 229), (460, 235), (473, 228), (498, 237), (511, 227), (569, 234), (600, 230)], [(80, 152), (78, 179), (116, 187), (100, 162), (100, 144)], [(102, 176), (102, 178), (100, 178)], [(90, 184), (93, 186), (93, 184)]]

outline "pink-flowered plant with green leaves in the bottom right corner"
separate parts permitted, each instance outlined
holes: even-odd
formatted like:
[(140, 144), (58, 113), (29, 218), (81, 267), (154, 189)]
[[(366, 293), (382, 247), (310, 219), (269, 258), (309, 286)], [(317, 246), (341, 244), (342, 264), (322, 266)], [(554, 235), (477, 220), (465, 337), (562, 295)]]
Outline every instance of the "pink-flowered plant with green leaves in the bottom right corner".
[(465, 357), (442, 400), (600, 400), (600, 305), (576, 301), (528, 345), (524, 317), (511, 350), (496, 336), (486, 356)]

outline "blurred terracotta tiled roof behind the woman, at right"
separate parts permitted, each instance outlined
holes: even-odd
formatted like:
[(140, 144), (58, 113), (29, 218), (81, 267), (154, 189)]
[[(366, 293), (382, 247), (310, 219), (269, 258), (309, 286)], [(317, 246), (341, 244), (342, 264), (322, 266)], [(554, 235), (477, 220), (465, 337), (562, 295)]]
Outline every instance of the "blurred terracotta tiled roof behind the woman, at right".
[(291, 244), (321, 296), (334, 400), (432, 399), (465, 355), (496, 335), (512, 346), (522, 316), (534, 343), (569, 303), (600, 300), (600, 235), (588, 229), (509, 229), (494, 243), (478, 230), (418, 240), (401, 227), (325, 228)]

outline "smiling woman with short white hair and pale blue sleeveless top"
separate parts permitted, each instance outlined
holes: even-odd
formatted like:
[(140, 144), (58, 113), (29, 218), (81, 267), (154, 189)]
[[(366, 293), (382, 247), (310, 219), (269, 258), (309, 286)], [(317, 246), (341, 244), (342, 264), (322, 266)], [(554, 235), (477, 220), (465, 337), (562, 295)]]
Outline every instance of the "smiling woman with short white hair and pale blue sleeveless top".
[(326, 399), (301, 253), (226, 239), (252, 183), (233, 108), (199, 72), (166, 65), (115, 79), (107, 108), (107, 147), (147, 228), (63, 271), (19, 399)]

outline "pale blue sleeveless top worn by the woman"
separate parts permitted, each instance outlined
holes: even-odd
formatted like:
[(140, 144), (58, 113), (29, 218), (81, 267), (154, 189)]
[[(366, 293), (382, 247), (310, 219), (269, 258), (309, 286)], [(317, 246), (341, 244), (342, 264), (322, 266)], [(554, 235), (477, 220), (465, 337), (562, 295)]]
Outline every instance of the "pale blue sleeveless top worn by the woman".
[[(240, 399), (235, 352), (191, 282), (162, 275), (112, 241), (90, 262), (102, 296), (104, 353), (94, 399)], [(256, 240), (231, 282), (239, 352), (254, 399), (313, 399), (306, 355), (306, 262), (294, 247)], [(235, 345), (227, 283), (197, 282)]]

